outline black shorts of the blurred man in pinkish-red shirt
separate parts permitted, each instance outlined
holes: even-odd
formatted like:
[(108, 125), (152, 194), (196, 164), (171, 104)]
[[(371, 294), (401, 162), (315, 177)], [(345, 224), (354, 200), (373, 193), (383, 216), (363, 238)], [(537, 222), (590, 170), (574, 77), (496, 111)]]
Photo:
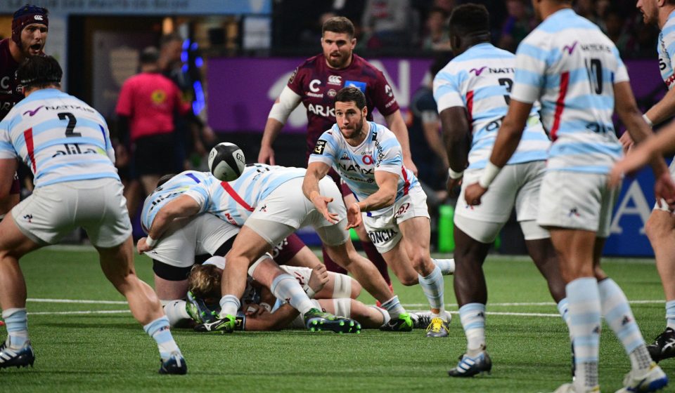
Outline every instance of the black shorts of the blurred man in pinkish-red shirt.
[(176, 173), (174, 156), (174, 134), (144, 136), (136, 139), (132, 149), (134, 168), (131, 173), (134, 179), (143, 175), (167, 175)]

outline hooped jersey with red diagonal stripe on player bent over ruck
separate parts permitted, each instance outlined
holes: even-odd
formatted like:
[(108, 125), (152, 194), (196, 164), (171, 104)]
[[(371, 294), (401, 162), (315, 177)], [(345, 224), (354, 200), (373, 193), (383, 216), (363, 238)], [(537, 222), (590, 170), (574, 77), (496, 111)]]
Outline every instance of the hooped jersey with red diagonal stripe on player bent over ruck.
[(304, 168), (252, 164), (232, 182), (213, 182), (193, 187), (186, 195), (197, 201), (200, 211), (217, 215), (233, 225), (242, 226), (259, 202), (288, 180), (303, 178)]

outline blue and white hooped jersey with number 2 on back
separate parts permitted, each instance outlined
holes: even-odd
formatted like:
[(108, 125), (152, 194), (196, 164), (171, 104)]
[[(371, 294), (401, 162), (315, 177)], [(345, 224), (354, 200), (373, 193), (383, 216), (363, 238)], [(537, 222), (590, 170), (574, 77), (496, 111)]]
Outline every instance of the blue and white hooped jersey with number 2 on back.
[(30, 167), (35, 187), (120, 180), (103, 116), (55, 88), (34, 91), (0, 121), (0, 159), (16, 158)]

